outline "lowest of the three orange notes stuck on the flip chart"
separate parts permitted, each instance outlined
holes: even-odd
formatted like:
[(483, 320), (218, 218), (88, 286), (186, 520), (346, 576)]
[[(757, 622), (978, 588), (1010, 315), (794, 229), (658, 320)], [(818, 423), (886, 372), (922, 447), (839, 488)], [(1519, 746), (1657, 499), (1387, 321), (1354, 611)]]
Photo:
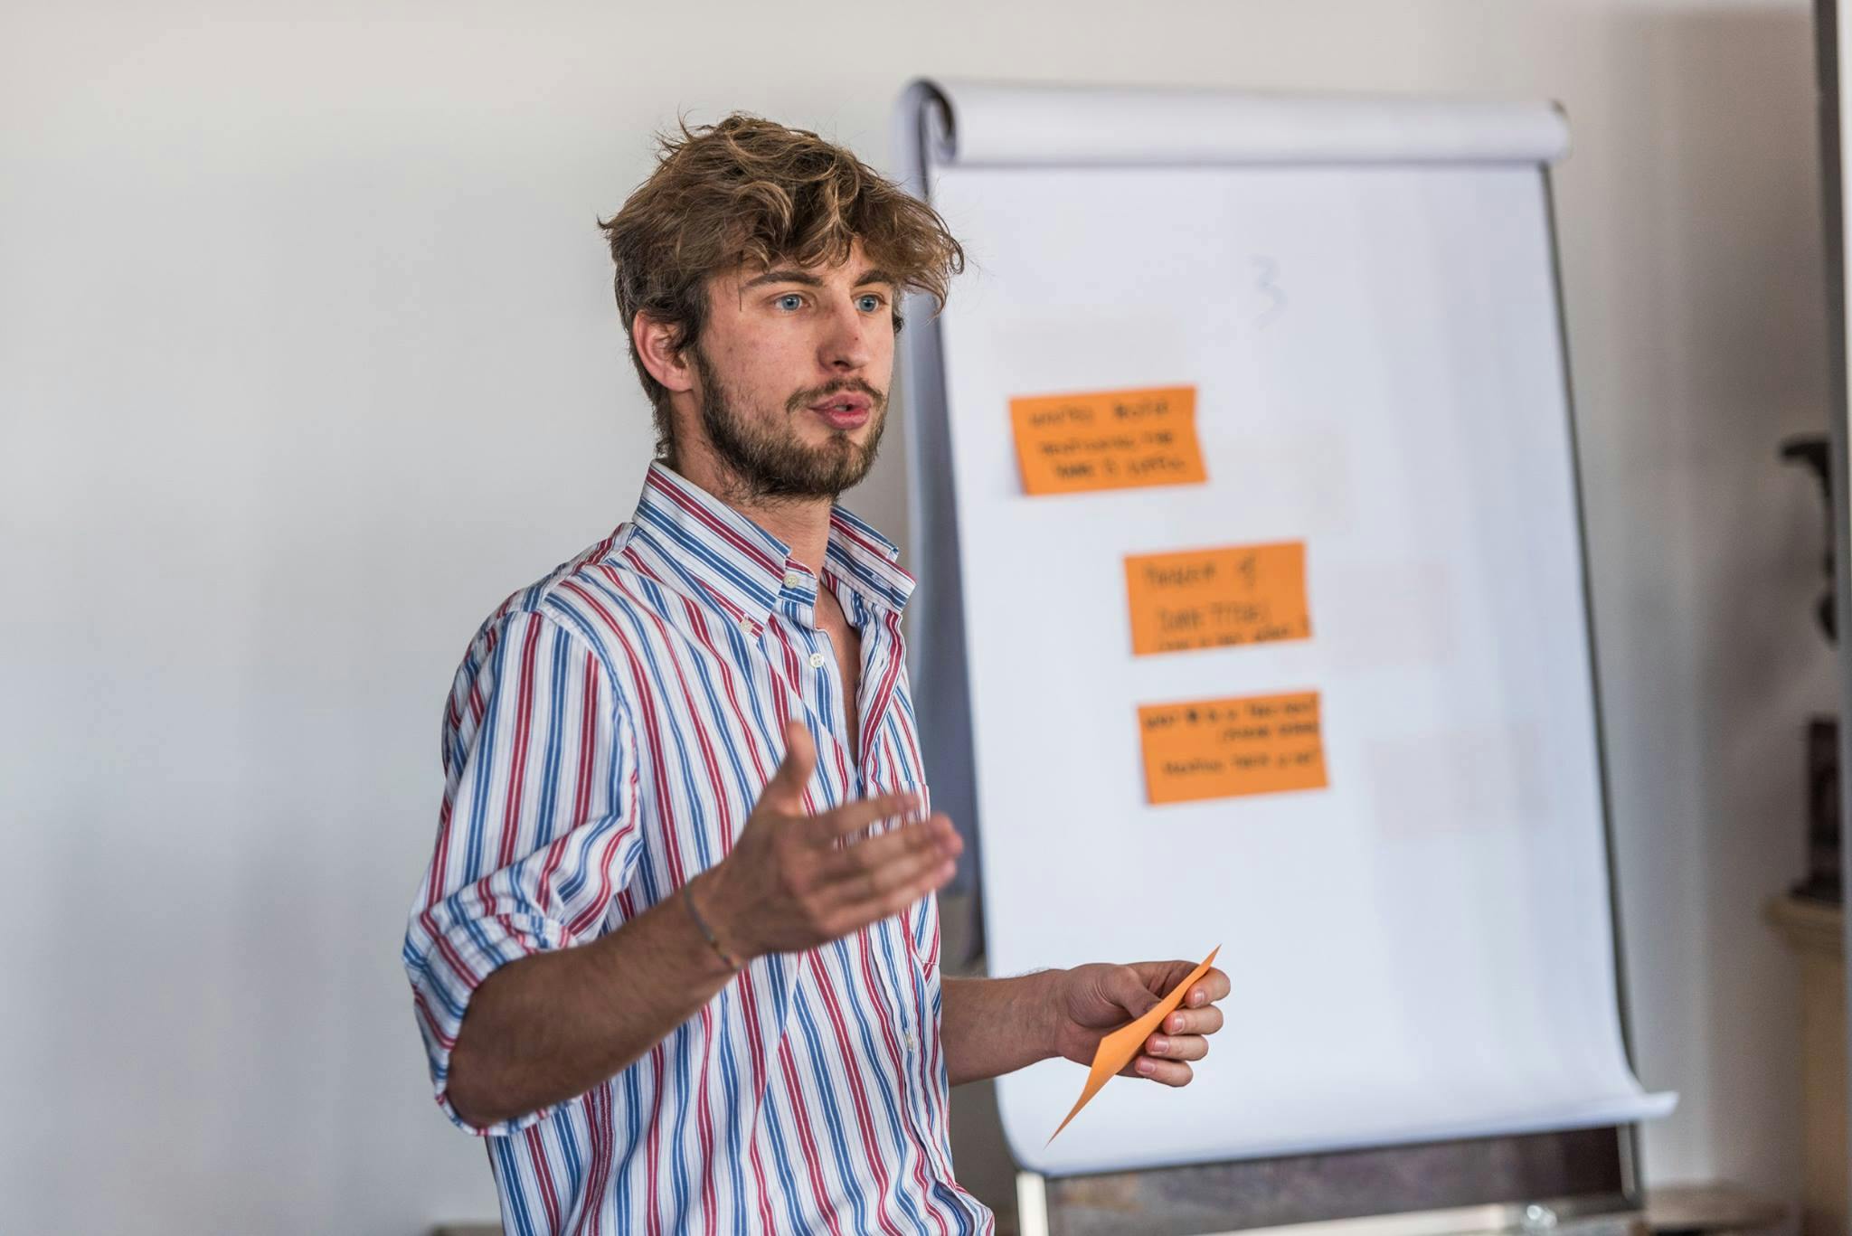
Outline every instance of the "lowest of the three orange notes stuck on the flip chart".
[(1328, 784), (1317, 691), (1145, 704), (1139, 738), (1152, 806)]

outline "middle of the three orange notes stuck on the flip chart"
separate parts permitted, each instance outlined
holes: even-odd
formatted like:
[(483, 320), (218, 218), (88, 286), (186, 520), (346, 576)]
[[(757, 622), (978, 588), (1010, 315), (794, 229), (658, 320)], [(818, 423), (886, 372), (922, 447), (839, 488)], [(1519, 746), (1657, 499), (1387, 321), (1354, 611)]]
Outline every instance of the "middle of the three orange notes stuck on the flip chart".
[(1128, 554), (1132, 652), (1306, 639), (1306, 543)]

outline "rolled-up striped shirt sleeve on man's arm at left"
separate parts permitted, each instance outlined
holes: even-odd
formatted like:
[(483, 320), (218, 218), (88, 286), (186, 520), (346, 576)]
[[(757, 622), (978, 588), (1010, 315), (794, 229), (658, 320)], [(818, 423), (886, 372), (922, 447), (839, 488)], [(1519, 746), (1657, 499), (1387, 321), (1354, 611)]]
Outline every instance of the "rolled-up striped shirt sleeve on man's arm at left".
[(509, 1134), (450, 1103), (450, 1053), (498, 967), (606, 930), (639, 856), (635, 732), (604, 662), (565, 624), (515, 610), (478, 634), (443, 725), (437, 843), (404, 964), (437, 1104), (474, 1134)]

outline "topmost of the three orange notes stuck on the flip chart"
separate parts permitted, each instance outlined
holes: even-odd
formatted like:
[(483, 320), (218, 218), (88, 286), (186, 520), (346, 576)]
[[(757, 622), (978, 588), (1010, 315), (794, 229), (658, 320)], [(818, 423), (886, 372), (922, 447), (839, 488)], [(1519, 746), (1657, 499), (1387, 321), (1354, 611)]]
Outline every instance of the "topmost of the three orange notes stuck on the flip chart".
[(1009, 400), (1022, 489), (1032, 495), (1202, 482), (1196, 387)]

